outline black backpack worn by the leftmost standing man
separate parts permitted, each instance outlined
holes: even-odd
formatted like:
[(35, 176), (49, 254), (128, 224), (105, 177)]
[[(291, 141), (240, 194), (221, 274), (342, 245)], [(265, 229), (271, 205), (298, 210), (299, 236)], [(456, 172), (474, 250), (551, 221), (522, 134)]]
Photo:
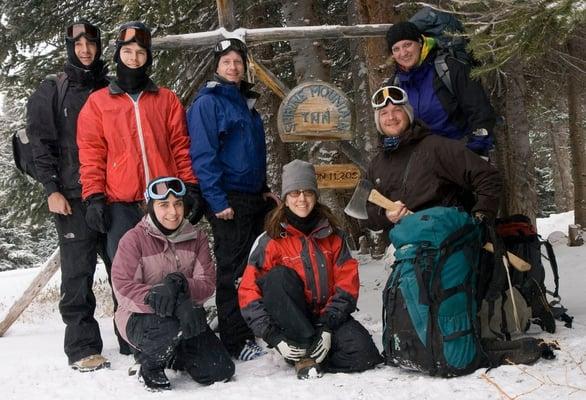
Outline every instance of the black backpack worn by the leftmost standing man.
[[(45, 79), (55, 82), (57, 88), (57, 110), (63, 107), (63, 100), (68, 88), (67, 74), (60, 72), (56, 75), (47, 75)], [(12, 135), (12, 155), (14, 156), (14, 164), (16, 168), (38, 181), (37, 171), (33, 159), (32, 145), (29, 140), (30, 132), (28, 130), (28, 123), (26, 128), (21, 128)]]

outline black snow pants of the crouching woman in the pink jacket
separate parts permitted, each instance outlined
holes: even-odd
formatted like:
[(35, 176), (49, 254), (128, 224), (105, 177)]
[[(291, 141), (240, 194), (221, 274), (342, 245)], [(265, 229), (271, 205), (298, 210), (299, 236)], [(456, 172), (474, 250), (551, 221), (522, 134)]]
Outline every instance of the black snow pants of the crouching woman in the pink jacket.
[(196, 337), (179, 336), (179, 320), (154, 314), (132, 314), (126, 326), (130, 343), (138, 349), (136, 359), (143, 368), (181, 366), (202, 385), (227, 381), (234, 375), (234, 362), (220, 339), (208, 328)]

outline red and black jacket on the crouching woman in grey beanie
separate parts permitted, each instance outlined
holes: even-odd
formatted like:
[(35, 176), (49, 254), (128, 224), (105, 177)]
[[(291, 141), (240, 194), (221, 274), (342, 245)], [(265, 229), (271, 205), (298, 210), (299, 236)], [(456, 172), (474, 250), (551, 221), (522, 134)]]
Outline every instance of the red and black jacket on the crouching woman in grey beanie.
[[(238, 288), (240, 311), (254, 334), (264, 337), (271, 323), (257, 280), (277, 265), (299, 275), (314, 315), (350, 315), (356, 309), (360, 282), (358, 262), (350, 254), (345, 234), (323, 220), (308, 236), (291, 225), (284, 226), (282, 236), (271, 239), (266, 232), (259, 236)], [(306, 266), (311, 275), (306, 274)]]

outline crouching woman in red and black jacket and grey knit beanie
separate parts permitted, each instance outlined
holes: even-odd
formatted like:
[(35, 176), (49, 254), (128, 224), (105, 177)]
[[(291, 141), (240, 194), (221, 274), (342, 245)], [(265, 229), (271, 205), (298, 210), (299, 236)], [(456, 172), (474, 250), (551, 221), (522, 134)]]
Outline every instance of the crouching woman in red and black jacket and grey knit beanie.
[(312, 164), (283, 167), (284, 202), (268, 217), (238, 297), (256, 336), (295, 365), (297, 377), (357, 372), (382, 361), (368, 331), (350, 314), (358, 263), (331, 211), (318, 202)]

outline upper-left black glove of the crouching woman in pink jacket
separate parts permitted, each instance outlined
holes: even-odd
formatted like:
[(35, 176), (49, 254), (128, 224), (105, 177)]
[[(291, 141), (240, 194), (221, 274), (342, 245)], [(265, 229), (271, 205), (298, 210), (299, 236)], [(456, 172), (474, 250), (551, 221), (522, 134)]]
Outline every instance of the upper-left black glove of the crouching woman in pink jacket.
[(181, 272), (173, 272), (161, 283), (154, 285), (145, 297), (145, 304), (151, 306), (161, 318), (173, 316), (177, 298), (187, 291), (187, 280)]

